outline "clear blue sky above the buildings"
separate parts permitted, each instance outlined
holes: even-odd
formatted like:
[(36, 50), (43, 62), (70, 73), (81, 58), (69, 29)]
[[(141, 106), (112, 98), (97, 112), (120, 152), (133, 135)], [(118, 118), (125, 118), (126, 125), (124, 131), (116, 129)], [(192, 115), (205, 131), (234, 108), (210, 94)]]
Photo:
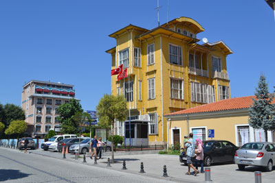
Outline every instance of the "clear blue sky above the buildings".
[[(160, 23), (167, 0), (159, 0)], [(74, 84), (85, 110), (95, 110), (111, 90), (109, 34), (122, 27), (157, 27), (157, 0), (0, 1), (0, 103), (21, 105), (22, 86), (30, 80)], [(168, 19), (188, 16), (205, 29), (197, 35), (223, 40), (228, 56), (231, 97), (254, 95), (263, 71), (275, 86), (275, 21), (264, 0), (170, 0)]]

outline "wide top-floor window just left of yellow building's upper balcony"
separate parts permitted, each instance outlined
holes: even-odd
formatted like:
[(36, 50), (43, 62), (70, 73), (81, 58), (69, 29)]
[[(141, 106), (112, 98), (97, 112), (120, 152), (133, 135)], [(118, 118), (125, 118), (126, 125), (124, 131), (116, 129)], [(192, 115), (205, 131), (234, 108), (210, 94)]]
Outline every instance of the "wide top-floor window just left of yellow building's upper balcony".
[[(182, 66), (182, 63), (183, 63), (182, 62), (182, 59), (183, 59), (182, 58), (182, 47), (179, 45), (174, 45), (174, 44), (169, 43), (168, 51), (169, 51), (169, 63)], [(174, 58), (177, 58), (177, 62), (175, 62), (175, 60), (173, 60)]]

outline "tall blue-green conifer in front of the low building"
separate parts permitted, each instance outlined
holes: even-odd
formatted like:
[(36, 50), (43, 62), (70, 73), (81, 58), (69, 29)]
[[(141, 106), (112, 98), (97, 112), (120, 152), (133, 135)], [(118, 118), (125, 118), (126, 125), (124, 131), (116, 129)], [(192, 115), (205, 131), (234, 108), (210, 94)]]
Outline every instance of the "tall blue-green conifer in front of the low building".
[(265, 141), (267, 141), (267, 131), (275, 130), (275, 108), (272, 104), (274, 94), (269, 93), (265, 76), (261, 74), (256, 88), (253, 103), (249, 109), (249, 124), (255, 129), (265, 130)]

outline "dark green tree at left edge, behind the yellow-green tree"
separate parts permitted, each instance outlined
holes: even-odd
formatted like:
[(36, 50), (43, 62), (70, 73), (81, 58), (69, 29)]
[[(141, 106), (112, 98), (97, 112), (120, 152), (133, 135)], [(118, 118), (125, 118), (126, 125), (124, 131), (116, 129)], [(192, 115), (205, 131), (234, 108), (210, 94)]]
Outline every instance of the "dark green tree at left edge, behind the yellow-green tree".
[(8, 127), (11, 121), (25, 120), (25, 112), (22, 108), (12, 103), (7, 103), (3, 106), (3, 111), (2, 114), (0, 114), (0, 117), (1, 116), (3, 118), (1, 119), (1, 122), (4, 123), (5, 127)]

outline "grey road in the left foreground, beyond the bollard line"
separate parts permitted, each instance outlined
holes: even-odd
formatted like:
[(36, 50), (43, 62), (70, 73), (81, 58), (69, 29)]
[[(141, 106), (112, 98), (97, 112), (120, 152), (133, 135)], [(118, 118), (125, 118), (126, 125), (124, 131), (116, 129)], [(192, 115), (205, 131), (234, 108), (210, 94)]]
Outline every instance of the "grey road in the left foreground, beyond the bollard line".
[(168, 182), (0, 147), (0, 182)]

